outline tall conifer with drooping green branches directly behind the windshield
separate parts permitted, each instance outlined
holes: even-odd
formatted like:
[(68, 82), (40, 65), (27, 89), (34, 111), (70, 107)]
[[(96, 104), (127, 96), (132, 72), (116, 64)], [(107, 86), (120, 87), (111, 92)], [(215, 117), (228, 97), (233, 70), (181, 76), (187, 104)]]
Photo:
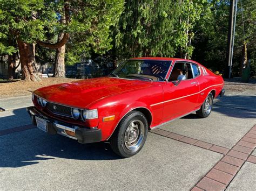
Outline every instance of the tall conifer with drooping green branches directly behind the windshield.
[(177, 3), (126, 1), (125, 10), (113, 28), (114, 54), (123, 58), (173, 56)]

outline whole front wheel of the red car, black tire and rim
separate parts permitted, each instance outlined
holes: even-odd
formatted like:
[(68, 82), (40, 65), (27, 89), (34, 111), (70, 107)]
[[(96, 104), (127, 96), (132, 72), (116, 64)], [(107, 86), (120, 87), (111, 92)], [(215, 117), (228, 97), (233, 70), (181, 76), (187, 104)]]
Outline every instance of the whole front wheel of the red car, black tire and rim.
[(111, 136), (112, 150), (121, 157), (132, 157), (142, 149), (146, 142), (148, 129), (147, 119), (142, 112), (129, 112), (123, 117)]

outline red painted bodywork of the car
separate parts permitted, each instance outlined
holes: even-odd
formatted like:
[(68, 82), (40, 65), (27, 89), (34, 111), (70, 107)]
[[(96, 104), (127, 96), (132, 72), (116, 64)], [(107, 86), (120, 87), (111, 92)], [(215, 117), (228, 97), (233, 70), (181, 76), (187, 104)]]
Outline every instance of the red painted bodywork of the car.
[[(175, 58), (134, 58), (141, 60), (165, 60), (171, 61), (167, 76), (169, 77), (175, 61), (191, 60)], [(79, 80), (69, 83), (61, 83), (47, 86), (34, 91), (34, 93), (49, 102), (60, 103), (80, 109), (98, 109), (98, 119), (87, 119), (86, 122), (71, 118), (56, 116), (34, 104), (44, 115), (51, 116), (60, 121), (84, 126), (97, 126), (102, 129), (102, 140), (107, 140), (113, 133), (119, 121), (127, 112), (144, 108), (152, 115), (153, 128), (171, 119), (183, 116), (188, 112), (199, 109), (206, 96), (212, 90), (217, 97), (223, 89), (224, 81), (221, 76), (213, 74), (206, 69), (207, 74), (195, 79), (181, 81), (178, 86), (172, 82), (150, 82), (141, 80), (126, 80), (115, 77), (99, 77), (96, 79)], [(193, 84), (191, 84), (194, 82)], [(103, 117), (116, 116), (114, 121), (103, 122)]]

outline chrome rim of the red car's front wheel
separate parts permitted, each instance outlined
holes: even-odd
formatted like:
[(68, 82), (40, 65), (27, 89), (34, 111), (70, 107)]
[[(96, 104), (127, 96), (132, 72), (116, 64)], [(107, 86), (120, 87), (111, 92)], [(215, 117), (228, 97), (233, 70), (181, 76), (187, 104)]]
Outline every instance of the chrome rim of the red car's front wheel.
[(136, 151), (144, 138), (144, 124), (140, 120), (133, 120), (127, 127), (124, 135), (124, 144), (128, 150)]

